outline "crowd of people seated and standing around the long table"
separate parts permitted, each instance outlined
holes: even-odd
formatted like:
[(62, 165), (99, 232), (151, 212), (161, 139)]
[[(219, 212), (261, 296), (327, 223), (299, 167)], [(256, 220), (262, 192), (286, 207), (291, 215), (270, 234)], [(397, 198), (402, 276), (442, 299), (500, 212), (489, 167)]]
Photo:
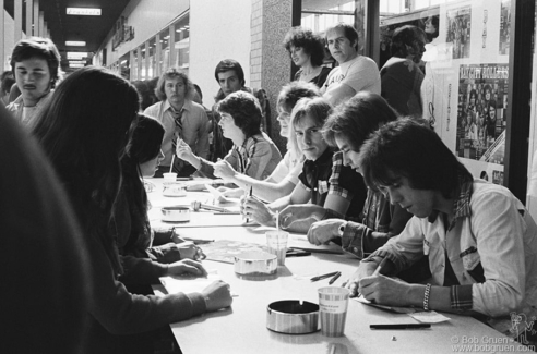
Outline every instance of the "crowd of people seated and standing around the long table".
[(274, 227), (277, 215), (312, 244), (341, 245), (357, 259), (346, 285), (354, 295), (476, 316), (514, 337), (513, 313), (537, 316), (537, 225), (508, 188), (474, 179), (421, 119), (426, 38), (397, 29), (393, 60), (379, 70), (358, 53), (351, 25), (324, 38), (291, 28), (283, 47), (299, 70), (277, 97), (283, 158), (267, 94), (246, 86), (235, 60), (216, 64), (220, 88), (206, 109), (178, 69), (150, 98), (146, 83), (106, 69), (62, 80), (49, 39), (21, 40), (12, 102), (2, 77), (0, 154), (12, 169), (0, 173), (0, 219), (4, 249), (28, 255), (11, 253), (2, 267), (13, 288), (2, 318), (13, 325), (0, 349), (141, 352), (168, 324), (231, 306), (223, 281), (150, 294), (158, 277), (206, 276), (200, 246), (148, 222), (143, 179), (170, 170), (223, 179), (228, 196), (250, 190), (240, 209), (251, 220)]

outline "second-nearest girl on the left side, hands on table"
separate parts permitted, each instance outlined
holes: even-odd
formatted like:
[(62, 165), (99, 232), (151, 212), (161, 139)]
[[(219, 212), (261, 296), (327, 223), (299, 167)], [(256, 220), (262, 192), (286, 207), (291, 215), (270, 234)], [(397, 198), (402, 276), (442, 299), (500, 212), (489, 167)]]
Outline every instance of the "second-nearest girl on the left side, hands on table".
[[(160, 143), (165, 134), (156, 119), (139, 113), (131, 127), (126, 154), (121, 157), (123, 183), (116, 203), (117, 243), (124, 273), (123, 283), (159, 283), (160, 269), (181, 259), (203, 255), (192, 242), (180, 242), (174, 229), (153, 230), (147, 217), (148, 202), (143, 178), (151, 178), (164, 159)], [(156, 240), (155, 240), (156, 239)], [(155, 242), (156, 241), (156, 242)], [(175, 242), (177, 241), (177, 243)]]

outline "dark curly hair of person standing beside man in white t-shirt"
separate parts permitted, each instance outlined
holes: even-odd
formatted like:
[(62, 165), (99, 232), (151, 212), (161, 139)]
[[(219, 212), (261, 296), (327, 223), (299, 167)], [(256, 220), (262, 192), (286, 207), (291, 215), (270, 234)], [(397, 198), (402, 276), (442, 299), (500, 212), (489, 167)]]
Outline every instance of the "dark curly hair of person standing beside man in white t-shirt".
[(311, 29), (303, 27), (293, 27), (284, 38), (285, 49), (290, 53), (291, 47), (299, 47), (310, 56), (311, 63), (321, 66), (324, 61), (323, 39), (315, 35)]

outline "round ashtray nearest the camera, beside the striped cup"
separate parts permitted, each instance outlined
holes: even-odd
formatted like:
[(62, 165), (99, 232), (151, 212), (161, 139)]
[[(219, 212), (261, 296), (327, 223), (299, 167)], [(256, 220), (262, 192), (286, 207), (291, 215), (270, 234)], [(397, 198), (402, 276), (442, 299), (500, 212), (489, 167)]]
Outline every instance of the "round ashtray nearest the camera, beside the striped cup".
[(319, 305), (307, 301), (284, 300), (266, 307), (266, 328), (288, 334), (317, 332), (319, 326)]

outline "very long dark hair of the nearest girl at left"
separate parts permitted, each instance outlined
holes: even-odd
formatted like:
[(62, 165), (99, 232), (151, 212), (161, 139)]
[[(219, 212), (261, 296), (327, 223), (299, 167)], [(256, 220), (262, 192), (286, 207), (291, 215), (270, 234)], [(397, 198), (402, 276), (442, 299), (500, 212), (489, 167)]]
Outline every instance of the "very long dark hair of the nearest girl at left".
[(103, 68), (69, 75), (37, 115), (34, 135), (64, 184), (86, 235), (104, 245), (121, 272), (114, 207), (121, 186), (119, 159), (140, 102), (128, 81)]

